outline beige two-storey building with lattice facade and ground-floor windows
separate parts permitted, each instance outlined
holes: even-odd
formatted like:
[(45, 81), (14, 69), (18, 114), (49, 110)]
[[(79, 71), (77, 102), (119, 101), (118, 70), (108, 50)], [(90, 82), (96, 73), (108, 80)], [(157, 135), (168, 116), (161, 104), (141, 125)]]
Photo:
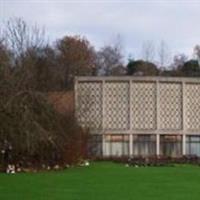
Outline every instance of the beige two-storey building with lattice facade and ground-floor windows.
[(77, 77), (78, 122), (97, 156), (200, 156), (200, 79)]

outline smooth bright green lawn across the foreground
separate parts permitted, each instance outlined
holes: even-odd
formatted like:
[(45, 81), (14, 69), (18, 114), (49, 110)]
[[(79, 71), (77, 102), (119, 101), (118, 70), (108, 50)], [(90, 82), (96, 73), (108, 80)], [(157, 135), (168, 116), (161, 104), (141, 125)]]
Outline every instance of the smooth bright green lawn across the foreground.
[(199, 200), (200, 167), (94, 163), (59, 172), (0, 174), (0, 200)]

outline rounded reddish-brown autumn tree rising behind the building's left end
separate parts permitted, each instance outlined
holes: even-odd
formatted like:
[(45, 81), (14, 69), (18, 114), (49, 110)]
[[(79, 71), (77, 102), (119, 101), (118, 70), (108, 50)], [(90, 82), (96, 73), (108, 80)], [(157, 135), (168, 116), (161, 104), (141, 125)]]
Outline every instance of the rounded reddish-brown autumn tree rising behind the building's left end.
[(95, 73), (95, 51), (86, 38), (66, 36), (56, 42), (63, 88), (73, 85), (75, 76)]

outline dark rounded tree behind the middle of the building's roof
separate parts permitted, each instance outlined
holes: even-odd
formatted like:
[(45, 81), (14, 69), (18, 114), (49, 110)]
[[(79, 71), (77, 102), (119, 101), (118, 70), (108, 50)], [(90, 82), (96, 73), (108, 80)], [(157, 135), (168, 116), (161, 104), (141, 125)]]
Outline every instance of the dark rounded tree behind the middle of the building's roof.
[(128, 75), (156, 76), (158, 72), (157, 66), (151, 62), (129, 60), (127, 64)]

